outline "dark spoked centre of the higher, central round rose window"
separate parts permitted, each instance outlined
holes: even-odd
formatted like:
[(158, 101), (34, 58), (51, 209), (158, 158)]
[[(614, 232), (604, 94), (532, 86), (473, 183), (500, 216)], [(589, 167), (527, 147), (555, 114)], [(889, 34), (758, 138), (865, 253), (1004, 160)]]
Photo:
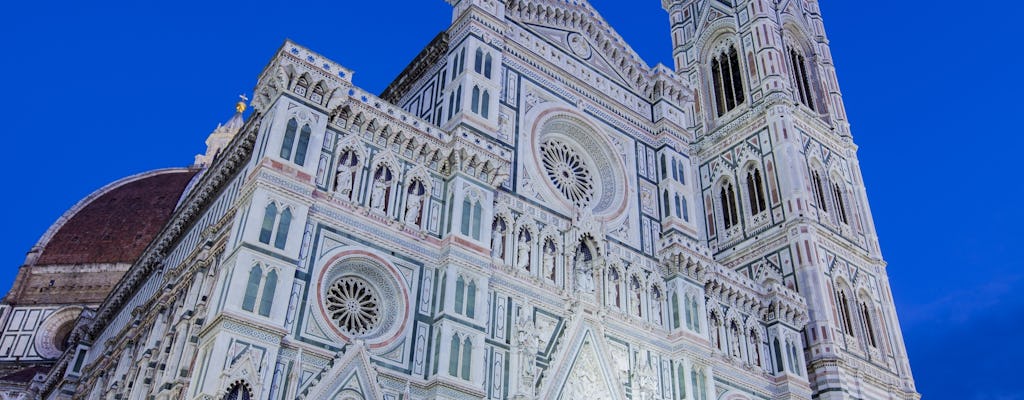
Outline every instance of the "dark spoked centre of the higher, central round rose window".
[(572, 147), (559, 140), (548, 140), (541, 144), (541, 158), (548, 179), (565, 198), (579, 207), (593, 201), (590, 166)]

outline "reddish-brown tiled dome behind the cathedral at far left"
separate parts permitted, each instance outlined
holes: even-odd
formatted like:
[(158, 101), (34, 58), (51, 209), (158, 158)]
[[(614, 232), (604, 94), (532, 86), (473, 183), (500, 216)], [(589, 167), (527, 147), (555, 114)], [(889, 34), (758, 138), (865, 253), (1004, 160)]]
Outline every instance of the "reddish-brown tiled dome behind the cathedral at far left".
[(111, 183), (73, 207), (39, 240), (35, 265), (133, 263), (160, 233), (198, 170), (168, 169)]

